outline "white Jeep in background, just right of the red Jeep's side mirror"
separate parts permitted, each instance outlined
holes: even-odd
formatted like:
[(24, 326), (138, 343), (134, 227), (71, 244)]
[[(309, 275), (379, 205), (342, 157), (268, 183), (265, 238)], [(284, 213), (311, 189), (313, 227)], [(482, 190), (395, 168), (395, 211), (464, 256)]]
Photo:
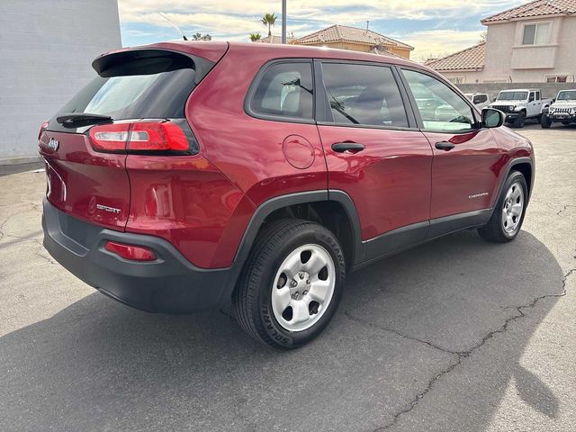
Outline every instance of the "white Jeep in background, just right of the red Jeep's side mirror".
[(542, 112), (552, 103), (552, 99), (542, 99), (541, 94), (537, 89), (502, 90), (489, 106), (504, 112), (507, 123), (522, 128), (527, 119), (540, 121)]

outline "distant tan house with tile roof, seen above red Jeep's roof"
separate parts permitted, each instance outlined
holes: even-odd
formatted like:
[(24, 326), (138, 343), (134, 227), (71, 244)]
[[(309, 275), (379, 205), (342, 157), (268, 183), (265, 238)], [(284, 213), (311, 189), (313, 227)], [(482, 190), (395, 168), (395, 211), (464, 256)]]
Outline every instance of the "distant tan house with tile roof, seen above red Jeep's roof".
[(320, 31), (315, 31), (307, 36), (294, 40), (292, 43), (297, 45), (352, 49), (355, 51), (373, 52), (374, 54), (392, 55), (401, 58), (410, 58), (410, 51), (414, 49), (414, 47), (400, 40), (392, 39), (376, 31), (338, 24)]

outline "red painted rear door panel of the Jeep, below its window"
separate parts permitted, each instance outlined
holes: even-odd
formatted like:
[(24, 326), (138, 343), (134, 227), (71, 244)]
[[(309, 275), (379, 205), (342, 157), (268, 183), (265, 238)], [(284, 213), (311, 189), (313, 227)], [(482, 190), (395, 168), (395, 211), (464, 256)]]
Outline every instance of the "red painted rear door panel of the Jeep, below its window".
[[(362, 238), (426, 221), (430, 210), (432, 149), (419, 131), (320, 126), (329, 168), (329, 188), (342, 190), (358, 211)], [(337, 153), (336, 142), (364, 144), (357, 153)]]

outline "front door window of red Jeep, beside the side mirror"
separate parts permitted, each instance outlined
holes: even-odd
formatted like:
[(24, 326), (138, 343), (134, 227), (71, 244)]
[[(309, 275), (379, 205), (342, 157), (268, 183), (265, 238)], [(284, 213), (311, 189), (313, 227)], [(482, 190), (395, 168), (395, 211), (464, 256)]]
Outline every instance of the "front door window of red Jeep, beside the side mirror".
[(426, 130), (470, 130), (476, 123), (472, 108), (459, 94), (432, 76), (403, 70)]

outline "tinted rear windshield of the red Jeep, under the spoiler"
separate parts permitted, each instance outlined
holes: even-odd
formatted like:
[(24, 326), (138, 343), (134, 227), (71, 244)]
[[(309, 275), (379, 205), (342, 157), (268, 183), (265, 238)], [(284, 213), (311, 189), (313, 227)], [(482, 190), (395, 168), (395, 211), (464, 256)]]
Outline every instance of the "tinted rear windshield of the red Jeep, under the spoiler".
[[(86, 112), (113, 120), (184, 118), (194, 78), (193, 59), (182, 55), (130, 59), (101, 71), (55, 117)], [(50, 129), (58, 126), (50, 121)]]

